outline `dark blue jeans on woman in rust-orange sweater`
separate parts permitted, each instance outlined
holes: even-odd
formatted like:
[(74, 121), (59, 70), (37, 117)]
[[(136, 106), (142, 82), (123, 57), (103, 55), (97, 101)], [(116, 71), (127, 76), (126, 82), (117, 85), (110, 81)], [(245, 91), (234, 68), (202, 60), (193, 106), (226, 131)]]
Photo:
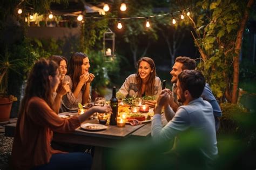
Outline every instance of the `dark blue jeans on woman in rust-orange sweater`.
[(87, 153), (59, 153), (51, 156), (50, 162), (32, 168), (32, 170), (44, 169), (91, 169), (92, 157)]

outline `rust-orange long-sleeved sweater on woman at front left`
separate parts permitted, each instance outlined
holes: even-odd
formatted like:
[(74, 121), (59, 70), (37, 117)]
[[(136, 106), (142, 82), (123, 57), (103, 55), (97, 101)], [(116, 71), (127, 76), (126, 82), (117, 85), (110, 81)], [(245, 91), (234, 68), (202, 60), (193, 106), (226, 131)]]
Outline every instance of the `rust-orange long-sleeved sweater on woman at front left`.
[(51, 148), (53, 131), (69, 133), (79, 126), (78, 117), (59, 118), (42, 98), (32, 97), (17, 121), (11, 166), (30, 169), (47, 164), (52, 154), (63, 153)]

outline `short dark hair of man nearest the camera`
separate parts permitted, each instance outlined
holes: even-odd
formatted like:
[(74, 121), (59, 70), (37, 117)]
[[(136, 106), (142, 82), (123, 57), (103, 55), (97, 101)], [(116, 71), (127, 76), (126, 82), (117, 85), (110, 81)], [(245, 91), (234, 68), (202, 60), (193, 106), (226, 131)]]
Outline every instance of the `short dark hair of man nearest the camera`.
[(178, 75), (179, 84), (183, 92), (188, 90), (191, 96), (199, 98), (205, 87), (205, 77), (197, 70), (183, 70)]

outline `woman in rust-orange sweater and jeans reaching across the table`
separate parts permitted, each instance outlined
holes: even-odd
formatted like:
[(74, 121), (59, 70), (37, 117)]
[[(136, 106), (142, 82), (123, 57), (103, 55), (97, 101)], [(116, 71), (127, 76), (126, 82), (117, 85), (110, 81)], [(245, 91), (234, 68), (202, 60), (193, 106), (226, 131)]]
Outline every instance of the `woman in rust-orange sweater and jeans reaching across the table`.
[(64, 153), (51, 148), (54, 132), (75, 131), (94, 112), (111, 111), (110, 107), (95, 106), (84, 114), (62, 119), (52, 110), (53, 96), (60, 74), (55, 62), (40, 59), (30, 72), (25, 96), (19, 110), (11, 167), (14, 169), (90, 169), (91, 155)]

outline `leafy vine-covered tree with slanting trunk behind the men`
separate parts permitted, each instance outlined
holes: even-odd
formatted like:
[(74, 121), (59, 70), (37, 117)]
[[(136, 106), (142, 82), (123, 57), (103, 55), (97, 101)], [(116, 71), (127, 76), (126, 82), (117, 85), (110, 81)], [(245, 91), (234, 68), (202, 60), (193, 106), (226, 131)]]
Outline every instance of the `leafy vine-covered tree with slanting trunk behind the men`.
[(198, 15), (190, 17), (194, 43), (204, 60), (201, 69), (213, 93), (232, 103), (237, 103), (242, 35), (253, 2), (203, 0), (193, 9)]

